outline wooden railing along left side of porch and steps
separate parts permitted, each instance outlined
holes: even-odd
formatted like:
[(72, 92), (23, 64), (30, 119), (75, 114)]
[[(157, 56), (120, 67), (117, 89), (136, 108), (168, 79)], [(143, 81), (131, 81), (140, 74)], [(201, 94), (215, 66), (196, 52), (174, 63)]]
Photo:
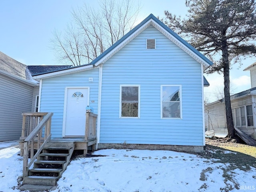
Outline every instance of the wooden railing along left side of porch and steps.
[[(40, 154), (42, 148), (44, 145), (50, 140), (51, 138), (51, 121), (52, 121), (52, 115), (53, 113), (23, 113), (23, 125), (22, 126), (22, 136), (25, 136), (25, 133), (28, 132), (28, 136), (23, 141), (23, 177), (28, 176), (28, 169), (33, 164), (33, 162), (36, 160), (38, 155)], [(45, 115), (45, 116), (44, 116)], [(26, 117), (29, 116), (29, 123), (28, 126), (26, 125)], [(35, 121), (30, 121), (32, 119), (32, 116), (34, 116)], [(38, 120), (38, 118), (40, 118)], [(39, 122), (40, 121), (40, 122)], [(30, 129), (30, 125), (37, 124), (35, 128)], [(39, 122), (39, 123), (38, 123)], [(28, 129), (26, 129), (26, 127)], [(44, 137), (42, 137), (42, 130), (44, 128)], [(21, 137), (22, 138), (22, 137)], [(42, 142), (41, 142), (42, 141)], [(22, 143), (22, 141), (20, 141)], [(34, 155), (34, 146), (37, 144), (37, 152)], [(28, 154), (30, 149), (30, 163), (28, 163)]]

